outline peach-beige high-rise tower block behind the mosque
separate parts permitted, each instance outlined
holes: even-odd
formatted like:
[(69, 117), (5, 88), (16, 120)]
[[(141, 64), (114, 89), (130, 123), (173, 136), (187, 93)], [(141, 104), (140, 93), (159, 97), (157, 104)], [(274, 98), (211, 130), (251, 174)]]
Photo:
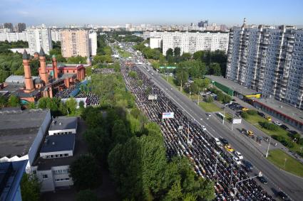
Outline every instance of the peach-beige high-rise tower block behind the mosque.
[(88, 31), (64, 30), (61, 31), (61, 52), (64, 58), (81, 56), (89, 58)]

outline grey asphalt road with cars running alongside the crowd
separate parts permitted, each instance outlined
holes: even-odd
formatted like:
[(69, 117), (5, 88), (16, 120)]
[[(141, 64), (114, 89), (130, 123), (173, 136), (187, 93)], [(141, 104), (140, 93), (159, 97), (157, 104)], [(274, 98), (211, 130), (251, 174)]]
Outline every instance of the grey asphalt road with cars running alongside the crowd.
[[(269, 193), (273, 195), (275, 192), (282, 190), (289, 195), (292, 200), (302, 200), (303, 178), (299, 178), (295, 175), (286, 173), (283, 170), (279, 170), (279, 168), (267, 161), (260, 151), (253, 148), (248, 141), (239, 138), (236, 133), (220, 124), (218, 119), (213, 116), (207, 119), (205, 112), (203, 112), (197, 104), (163, 80), (163, 78), (160, 77), (160, 74), (157, 74), (153, 70), (148, 72), (143, 67), (139, 68), (145, 73), (145, 75), (148, 75), (148, 77), (153, 77), (153, 82), (163, 89), (168, 97), (172, 99), (173, 102), (175, 102), (175, 104), (185, 112), (185, 114), (194, 121), (197, 121), (198, 124), (205, 125), (211, 136), (226, 138), (235, 150), (240, 151), (244, 158), (255, 166), (255, 174), (261, 170), (262, 174), (268, 180), (268, 184), (262, 186), (268, 190)], [(151, 72), (153, 72), (154, 75), (150, 75)]]

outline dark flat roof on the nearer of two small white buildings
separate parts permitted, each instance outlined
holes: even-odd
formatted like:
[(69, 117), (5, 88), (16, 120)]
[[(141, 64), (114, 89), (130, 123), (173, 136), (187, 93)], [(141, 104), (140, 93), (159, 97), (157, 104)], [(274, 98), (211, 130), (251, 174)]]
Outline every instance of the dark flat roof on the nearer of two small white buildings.
[(71, 151), (75, 146), (75, 134), (46, 136), (40, 153)]

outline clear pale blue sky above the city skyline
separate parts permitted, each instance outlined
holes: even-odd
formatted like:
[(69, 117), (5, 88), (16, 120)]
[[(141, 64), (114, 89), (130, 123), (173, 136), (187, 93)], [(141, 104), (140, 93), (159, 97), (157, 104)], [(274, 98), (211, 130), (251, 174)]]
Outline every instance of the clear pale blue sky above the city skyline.
[(303, 25), (303, 0), (0, 0), (0, 23)]

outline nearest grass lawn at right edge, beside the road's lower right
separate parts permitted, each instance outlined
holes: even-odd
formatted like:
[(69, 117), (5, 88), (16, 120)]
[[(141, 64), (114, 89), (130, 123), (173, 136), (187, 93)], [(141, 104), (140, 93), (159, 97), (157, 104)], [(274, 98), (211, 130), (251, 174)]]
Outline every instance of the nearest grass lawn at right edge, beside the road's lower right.
[[(287, 161), (284, 167), (285, 158), (287, 158)], [(267, 159), (282, 170), (303, 177), (303, 164), (299, 163), (296, 159), (292, 158), (292, 156), (289, 156), (287, 153), (284, 153), (284, 151), (281, 151), (279, 149), (269, 151), (269, 156)]]

